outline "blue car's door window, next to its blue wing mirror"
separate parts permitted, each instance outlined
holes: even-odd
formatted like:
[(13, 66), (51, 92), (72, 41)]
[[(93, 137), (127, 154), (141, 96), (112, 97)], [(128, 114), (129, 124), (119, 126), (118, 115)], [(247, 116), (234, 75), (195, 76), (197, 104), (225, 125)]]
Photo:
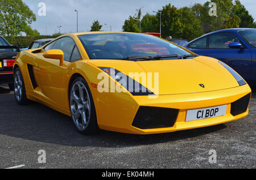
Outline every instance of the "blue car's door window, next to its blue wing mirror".
[(221, 32), (209, 36), (210, 49), (229, 49), (229, 44), (232, 42), (240, 42), (233, 33)]

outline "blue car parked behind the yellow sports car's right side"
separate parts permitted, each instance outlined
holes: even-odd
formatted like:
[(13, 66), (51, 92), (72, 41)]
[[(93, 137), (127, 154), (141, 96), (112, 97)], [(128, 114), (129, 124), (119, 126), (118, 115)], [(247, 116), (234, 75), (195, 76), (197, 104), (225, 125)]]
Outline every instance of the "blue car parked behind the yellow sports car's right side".
[(192, 52), (213, 57), (236, 70), (247, 82), (256, 83), (256, 29), (223, 29), (184, 45)]

